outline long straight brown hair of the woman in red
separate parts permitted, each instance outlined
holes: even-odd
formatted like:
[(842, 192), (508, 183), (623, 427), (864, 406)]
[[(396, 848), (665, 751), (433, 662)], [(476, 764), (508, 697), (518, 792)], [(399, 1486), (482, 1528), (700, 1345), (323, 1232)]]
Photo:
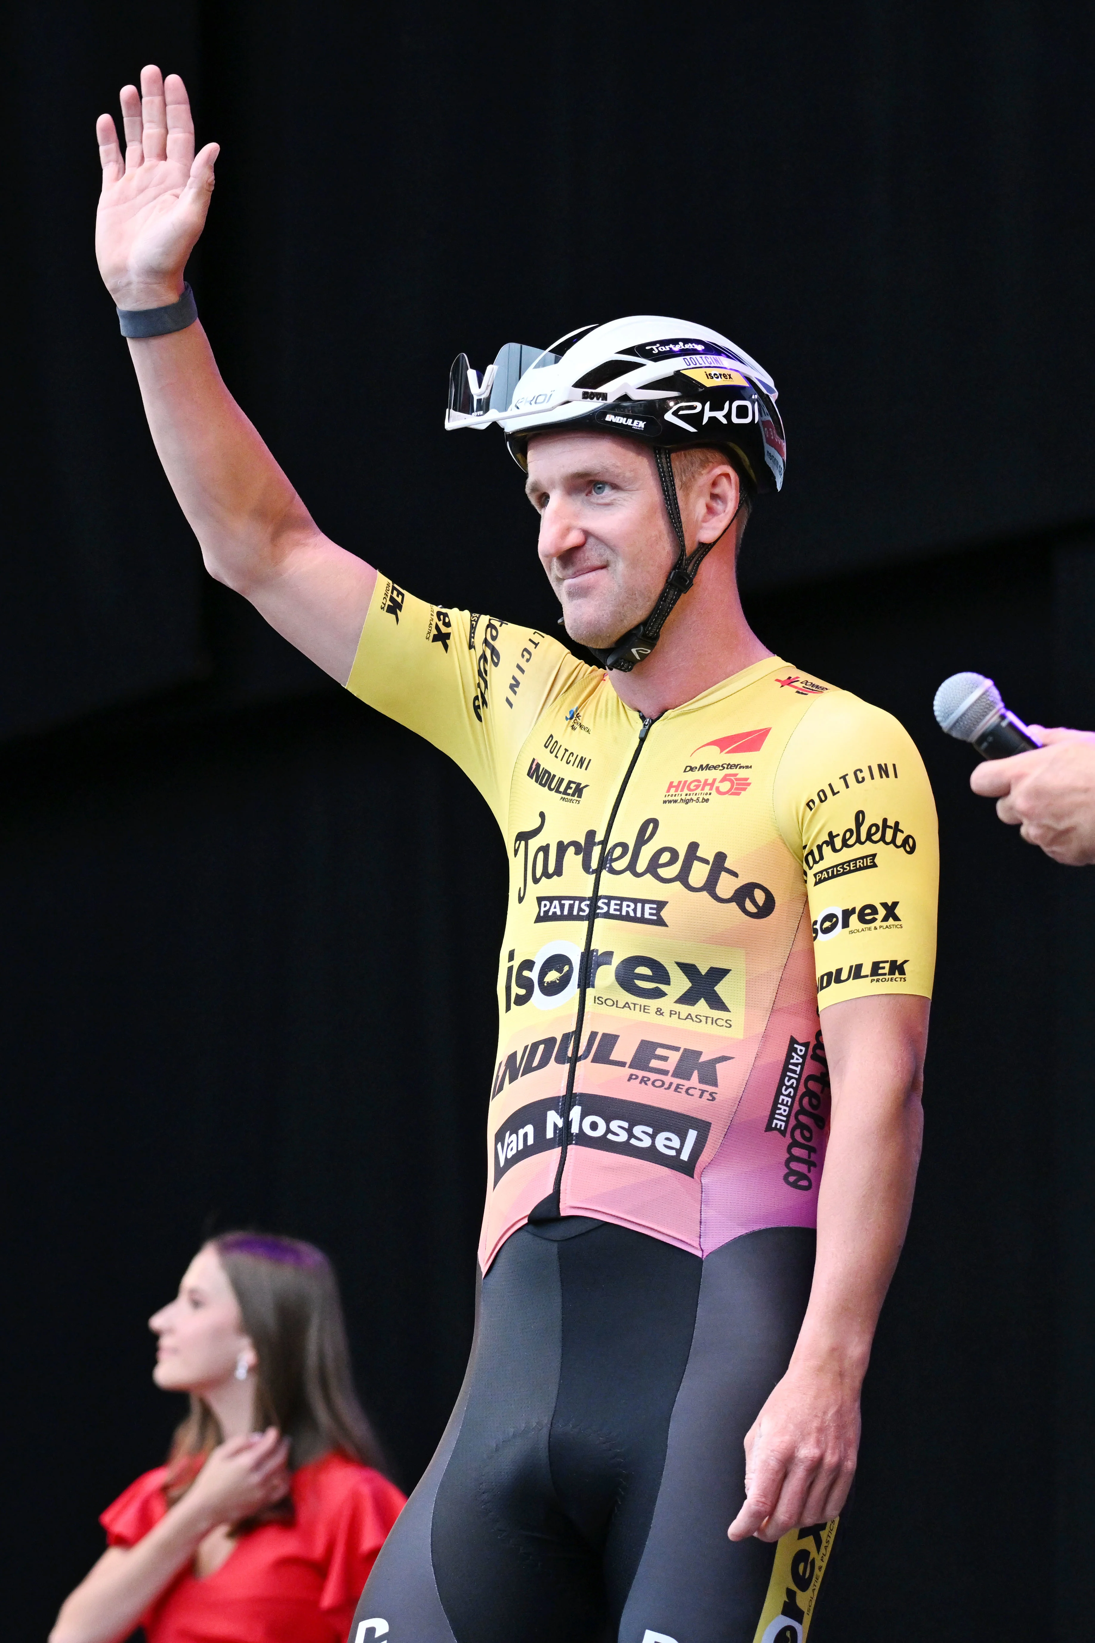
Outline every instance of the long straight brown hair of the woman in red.
[[(384, 1470), (373, 1428), (358, 1403), (338, 1280), (314, 1244), (264, 1232), (225, 1232), (210, 1239), (240, 1305), (243, 1331), (258, 1355), (254, 1424), (289, 1438), (289, 1469), (337, 1451)], [(172, 1505), (187, 1492), (202, 1462), (223, 1443), (210, 1406), (190, 1395), (190, 1413), (176, 1429), (164, 1493)], [(279, 1502), (240, 1528), (291, 1515)]]

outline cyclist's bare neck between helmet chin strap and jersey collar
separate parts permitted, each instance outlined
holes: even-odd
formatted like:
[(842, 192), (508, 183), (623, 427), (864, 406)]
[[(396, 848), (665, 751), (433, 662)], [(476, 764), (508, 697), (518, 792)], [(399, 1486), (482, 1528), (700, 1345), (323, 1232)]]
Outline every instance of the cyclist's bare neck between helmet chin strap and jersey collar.
[(609, 674), (616, 695), (637, 713), (658, 718), (773, 654), (745, 621), (734, 544), (727, 549), (708, 554), (645, 662), (630, 674)]

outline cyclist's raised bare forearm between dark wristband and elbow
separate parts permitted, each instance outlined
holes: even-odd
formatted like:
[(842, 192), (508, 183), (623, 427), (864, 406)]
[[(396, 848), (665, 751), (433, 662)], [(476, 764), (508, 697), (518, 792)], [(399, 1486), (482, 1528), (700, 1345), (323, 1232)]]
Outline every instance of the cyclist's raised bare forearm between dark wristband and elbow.
[(207, 568), (241, 593), (318, 534), (225, 388), (200, 322), (130, 342), (148, 426)]

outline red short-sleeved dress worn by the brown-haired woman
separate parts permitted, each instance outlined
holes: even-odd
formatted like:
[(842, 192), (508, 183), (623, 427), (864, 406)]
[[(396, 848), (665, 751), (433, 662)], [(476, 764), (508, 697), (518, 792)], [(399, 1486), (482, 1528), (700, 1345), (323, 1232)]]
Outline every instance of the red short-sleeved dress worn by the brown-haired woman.
[[(99, 1520), (133, 1546), (167, 1512), (167, 1469), (144, 1472)], [(141, 1615), (148, 1643), (345, 1643), (361, 1587), (404, 1495), (340, 1454), (292, 1474), (296, 1523), (241, 1535), (220, 1569), (182, 1569)]]

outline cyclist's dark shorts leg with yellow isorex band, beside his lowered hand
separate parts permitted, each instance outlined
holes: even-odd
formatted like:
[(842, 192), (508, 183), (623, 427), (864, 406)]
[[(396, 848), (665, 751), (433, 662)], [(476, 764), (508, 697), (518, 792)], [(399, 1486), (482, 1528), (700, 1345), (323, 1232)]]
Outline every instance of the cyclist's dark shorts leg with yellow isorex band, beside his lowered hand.
[[(785, 1372), (809, 1298), (814, 1236), (745, 1234), (703, 1263), (696, 1329), (619, 1643), (801, 1643), (832, 1526), (731, 1543), (744, 1439)], [(763, 1622), (763, 1623), (762, 1623)]]

